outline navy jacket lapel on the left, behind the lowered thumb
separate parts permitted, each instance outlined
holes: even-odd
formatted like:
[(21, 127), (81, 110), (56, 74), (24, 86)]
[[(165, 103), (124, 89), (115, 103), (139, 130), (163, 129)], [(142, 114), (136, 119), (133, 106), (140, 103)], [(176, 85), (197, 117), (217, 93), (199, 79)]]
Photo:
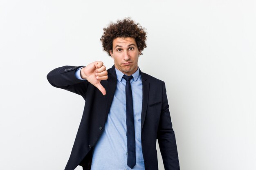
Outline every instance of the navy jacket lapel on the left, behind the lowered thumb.
[(116, 71), (115, 71), (115, 65), (112, 66), (112, 68), (110, 68), (110, 71), (108, 73), (108, 89), (107, 89), (107, 108), (106, 108), (106, 117), (105, 117), (105, 121), (107, 120), (108, 117), (108, 113), (110, 111), (110, 106), (112, 104), (112, 100), (115, 94), (115, 90), (117, 87), (117, 75), (116, 75)]

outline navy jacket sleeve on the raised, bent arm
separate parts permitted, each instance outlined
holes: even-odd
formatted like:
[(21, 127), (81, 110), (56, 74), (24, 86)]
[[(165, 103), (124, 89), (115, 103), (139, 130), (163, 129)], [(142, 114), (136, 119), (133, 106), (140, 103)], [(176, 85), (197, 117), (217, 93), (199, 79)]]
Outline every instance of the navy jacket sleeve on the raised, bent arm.
[(63, 66), (55, 68), (47, 75), (49, 83), (57, 88), (71, 91), (84, 96), (88, 87), (88, 81), (76, 78), (75, 71), (83, 66)]

